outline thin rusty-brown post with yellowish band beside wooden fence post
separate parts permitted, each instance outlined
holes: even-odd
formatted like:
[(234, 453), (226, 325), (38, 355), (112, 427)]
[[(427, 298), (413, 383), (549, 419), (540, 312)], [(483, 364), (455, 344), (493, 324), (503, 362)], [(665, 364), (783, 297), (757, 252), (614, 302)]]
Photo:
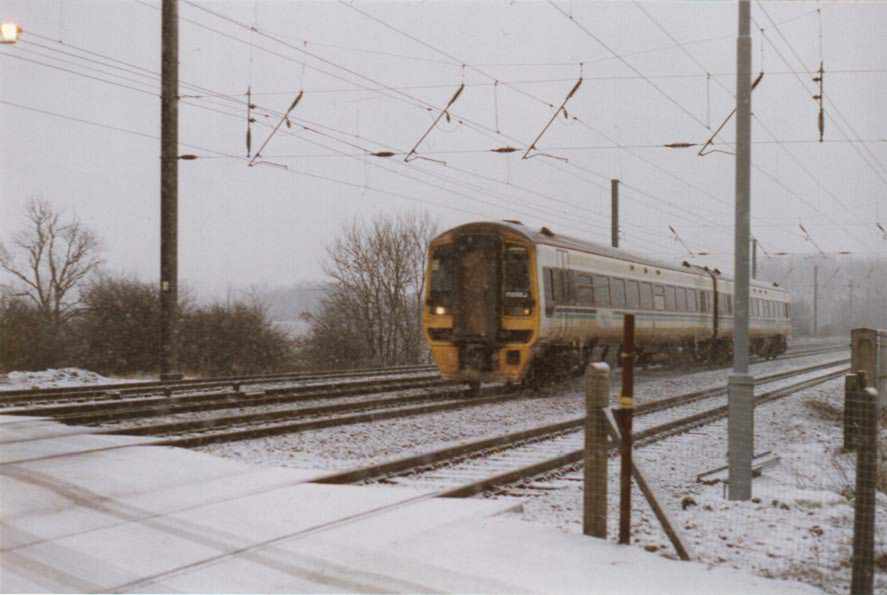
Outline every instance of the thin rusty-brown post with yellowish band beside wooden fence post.
[(622, 394), (614, 416), (622, 434), (619, 469), (619, 543), (631, 543), (631, 450), (634, 421), (634, 314), (626, 314), (622, 323)]

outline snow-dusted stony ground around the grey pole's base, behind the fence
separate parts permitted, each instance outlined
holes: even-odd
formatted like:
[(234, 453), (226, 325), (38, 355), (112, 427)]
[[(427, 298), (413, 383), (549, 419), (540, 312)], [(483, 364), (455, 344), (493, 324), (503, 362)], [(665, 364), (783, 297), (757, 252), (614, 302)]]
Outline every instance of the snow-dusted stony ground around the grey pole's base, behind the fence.
[[(846, 593), (853, 538), (855, 458), (841, 452), (843, 380), (765, 405), (755, 415), (755, 452), (771, 450), (781, 463), (754, 480), (753, 499), (731, 502), (723, 485), (697, 474), (725, 464), (726, 421), (639, 448), (636, 460), (683, 535), (694, 560), (793, 578)], [(882, 430), (887, 444), (887, 431)], [(524, 520), (582, 530), (581, 472), (561, 478), (562, 489), (526, 500)], [(532, 486), (530, 486), (532, 487)], [(618, 515), (618, 460), (611, 460), (610, 529)], [(633, 494), (633, 540), (651, 551), (673, 550), (641, 494)], [(876, 591), (887, 592), (887, 495), (876, 514)]]

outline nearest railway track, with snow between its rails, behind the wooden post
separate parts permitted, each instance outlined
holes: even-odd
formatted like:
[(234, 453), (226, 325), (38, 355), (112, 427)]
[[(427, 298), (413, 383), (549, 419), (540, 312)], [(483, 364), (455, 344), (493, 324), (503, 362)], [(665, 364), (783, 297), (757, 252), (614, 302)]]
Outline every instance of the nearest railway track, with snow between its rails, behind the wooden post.
[[(812, 378), (779, 387), (757, 396), (755, 405), (785, 398), (800, 390), (846, 373), (839, 360), (787, 370), (756, 379), (757, 385), (828, 370)], [(838, 368), (838, 366), (841, 366)], [(684, 407), (726, 394), (726, 386), (644, 403), (636, 417)], [(725, 417), (726, 405), (710, 408), (651, 426), (635, 433), (639, 446), (690, 431)], [(381, 482), (437, 492), (440, 496), (465, 497), (501, 489), (544, 474), (563, 474), (581, 465), (584, 456), (584, 417), (486, 438), (386, 463), (327, 475), (320, 483)]]

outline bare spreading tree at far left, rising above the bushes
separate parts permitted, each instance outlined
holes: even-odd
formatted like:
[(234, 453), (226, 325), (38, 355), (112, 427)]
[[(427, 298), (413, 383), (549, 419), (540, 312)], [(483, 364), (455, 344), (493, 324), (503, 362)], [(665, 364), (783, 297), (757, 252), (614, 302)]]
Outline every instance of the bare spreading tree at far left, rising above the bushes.
[(16, 280), (16, 295), (31, 300), (54, 326), (79, 303), (77, 287), (98, 268), (99, 242), (77, 217), (62, 220), (52, 205), (28, 201), (27, 225), (12, 236), (12, 251), (0, 243), (0, 269)]

